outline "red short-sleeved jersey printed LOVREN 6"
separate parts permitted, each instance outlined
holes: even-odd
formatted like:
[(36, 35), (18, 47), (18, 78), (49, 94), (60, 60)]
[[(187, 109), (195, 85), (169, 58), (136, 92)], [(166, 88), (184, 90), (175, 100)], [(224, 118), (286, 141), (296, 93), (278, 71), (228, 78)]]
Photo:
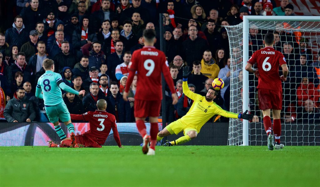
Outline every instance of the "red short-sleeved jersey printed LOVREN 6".
[(254, 52), (248, 63), (258, 65), (258, 89), (282, 90), (279, 64), (286, 64), (286, 62), (281, 52), (276, 51), (273, 47), (265, 47)]

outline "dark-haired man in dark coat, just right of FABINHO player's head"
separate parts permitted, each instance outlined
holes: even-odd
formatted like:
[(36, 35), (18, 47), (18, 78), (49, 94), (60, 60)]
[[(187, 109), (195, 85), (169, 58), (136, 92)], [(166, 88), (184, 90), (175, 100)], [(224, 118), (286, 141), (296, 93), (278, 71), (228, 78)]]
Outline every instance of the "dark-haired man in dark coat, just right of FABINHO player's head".
[(131, 122), (131, 108), (129, 101), (124, 101), (116, 82), (110, 85), (111, 94), (107, 98), (107, 112), (115, 115), (117, 122)]

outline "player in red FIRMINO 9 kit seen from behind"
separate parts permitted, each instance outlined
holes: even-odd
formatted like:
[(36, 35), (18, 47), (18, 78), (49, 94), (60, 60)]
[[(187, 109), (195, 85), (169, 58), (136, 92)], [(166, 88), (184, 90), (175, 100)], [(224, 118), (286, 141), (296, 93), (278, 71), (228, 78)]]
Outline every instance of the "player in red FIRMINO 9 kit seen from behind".
[[(154, 155), (156, 153), (156, 138), (159, 131), (158, 116), (162, 100), (161, 72), (172, 93), (173, 105), (178, 102), (178, 96), (173, 86), (164, 52), (153, 46), (156, 42), (156, 32), (153, 29), (144, 30), (143, 41), (144, 47), (135, 50), (132, 54), (132, 59), (128, 66), (130, 72), (123, 93), (123, 99), (124, 101), (128, 101), (128, 91), (134, 74), (138, 71), (137, 79), (139, 83), (134, 96), (134, 117), (136, 119), (138, 131), (143, 137), (142, 152), (144, 154)], [(149, 121), (151, 123), (150, 136), (147, 135), (146, 125), (144, 124), (144, 120), (147, 116), (149, 116)], [(148, 147), (149, 142), (150, 149)]]

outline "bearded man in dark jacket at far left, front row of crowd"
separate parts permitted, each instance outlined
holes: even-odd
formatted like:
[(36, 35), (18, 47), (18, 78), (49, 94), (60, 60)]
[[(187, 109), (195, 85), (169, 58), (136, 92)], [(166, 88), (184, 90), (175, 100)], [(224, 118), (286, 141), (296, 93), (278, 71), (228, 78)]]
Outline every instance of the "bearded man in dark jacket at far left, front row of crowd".
[(20, 87), (4, 109), (7, 122), (32, 122), (36, 117), (33, 104), (25, 97), (24, 88)]

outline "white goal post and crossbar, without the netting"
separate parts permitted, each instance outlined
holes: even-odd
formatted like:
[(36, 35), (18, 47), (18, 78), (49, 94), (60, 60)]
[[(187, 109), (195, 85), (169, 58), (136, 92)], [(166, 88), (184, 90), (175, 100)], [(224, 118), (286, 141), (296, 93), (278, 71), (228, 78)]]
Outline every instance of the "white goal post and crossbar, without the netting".
[[(245, 65), (249, 58), (249, 21), (320, 21), (318, 16), (243, 16), (243, 63)], [(243, 112), (249, 110), (249, 72), (243, 71)], [(243, 120), (243, 146), (249, 145), (249, 121)]]

